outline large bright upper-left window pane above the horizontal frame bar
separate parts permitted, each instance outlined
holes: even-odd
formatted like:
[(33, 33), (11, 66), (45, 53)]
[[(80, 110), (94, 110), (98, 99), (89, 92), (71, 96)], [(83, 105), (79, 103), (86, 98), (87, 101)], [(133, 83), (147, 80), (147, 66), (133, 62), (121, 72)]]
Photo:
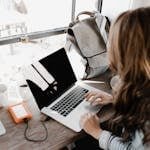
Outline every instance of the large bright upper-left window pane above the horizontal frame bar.
[(68, 26), (72, 0), (0, 0), (0, 37)]

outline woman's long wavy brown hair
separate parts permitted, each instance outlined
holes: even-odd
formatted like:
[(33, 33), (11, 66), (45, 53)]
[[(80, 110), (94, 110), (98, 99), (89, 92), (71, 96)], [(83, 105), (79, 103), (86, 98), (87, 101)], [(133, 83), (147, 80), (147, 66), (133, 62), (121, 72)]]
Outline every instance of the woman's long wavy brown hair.
[(122, 13), (110, 29), (110, 67), (121, 79), (114, 91), (116, 113), (110, 129), (123, 139), (133, 138), (136, 130), (150, 141), (150, 7)]

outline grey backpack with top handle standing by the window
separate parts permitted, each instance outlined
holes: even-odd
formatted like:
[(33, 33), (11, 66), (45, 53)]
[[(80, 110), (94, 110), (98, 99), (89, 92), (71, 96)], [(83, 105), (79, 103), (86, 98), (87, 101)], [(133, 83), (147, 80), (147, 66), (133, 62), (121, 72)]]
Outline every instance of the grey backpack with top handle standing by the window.
[[(88, 15), (86, 19), (79, 20), (80, 15)], [(107, 29), (107, 30), (106, 30)], [(81, 12), (67, 29), (66, 50), (72, 46), (82, 56), (85, 63), (83, 78), (92, 78), (108, 68), (106, 43), (109, 24), (105, 16), (98, 12)]]

